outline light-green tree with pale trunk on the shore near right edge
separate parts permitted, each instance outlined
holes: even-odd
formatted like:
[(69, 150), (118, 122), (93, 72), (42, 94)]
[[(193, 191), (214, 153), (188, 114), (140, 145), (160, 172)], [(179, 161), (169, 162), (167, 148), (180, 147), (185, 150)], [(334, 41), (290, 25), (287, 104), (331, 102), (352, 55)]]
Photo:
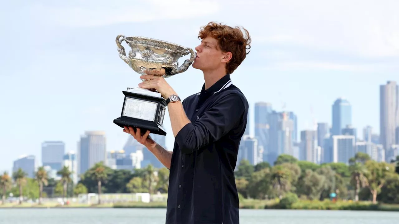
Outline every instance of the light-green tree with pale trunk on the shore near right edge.
[(367, 169), (365, 185), (370, 189), (371, 195), (373, 195), (373, 204), (376, 204), (377, 195), (381, 192), (386, 180), (395, 173), (395, 168), (392, 164), (378, 163), (374, 160), (366, 161), (365, 167)]

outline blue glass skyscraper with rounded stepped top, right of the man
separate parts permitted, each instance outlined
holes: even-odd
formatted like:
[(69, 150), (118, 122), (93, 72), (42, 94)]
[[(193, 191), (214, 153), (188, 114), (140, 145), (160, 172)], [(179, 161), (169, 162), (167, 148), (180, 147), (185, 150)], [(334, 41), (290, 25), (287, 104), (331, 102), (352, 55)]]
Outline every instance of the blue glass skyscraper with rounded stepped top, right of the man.
[(352, 106), (348, 100), (338, 98), (332, 105), (332, 135), (341, 135), (347, 125), (352, 125)]

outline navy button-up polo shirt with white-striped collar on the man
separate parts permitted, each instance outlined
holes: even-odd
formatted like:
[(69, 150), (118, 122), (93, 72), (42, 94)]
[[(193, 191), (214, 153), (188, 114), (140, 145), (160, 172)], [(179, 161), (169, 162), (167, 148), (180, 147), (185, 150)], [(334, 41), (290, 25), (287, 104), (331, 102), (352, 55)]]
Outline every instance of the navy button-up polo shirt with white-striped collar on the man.
[(238, 224), (234, 169), (248, 102), (225, 75), (184, 99), (191, 120), (176, 135), (166, 224)]

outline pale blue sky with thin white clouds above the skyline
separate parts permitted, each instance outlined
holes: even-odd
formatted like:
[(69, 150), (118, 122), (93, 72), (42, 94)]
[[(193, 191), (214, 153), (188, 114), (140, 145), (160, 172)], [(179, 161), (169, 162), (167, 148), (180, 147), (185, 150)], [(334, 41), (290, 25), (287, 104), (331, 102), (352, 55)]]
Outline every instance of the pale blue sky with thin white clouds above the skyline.
[[(128, 134), (120, 116), (127, 87), (140, 83), (118, 56), (115, 38), (144, 36), (191, 47), (208, 22), (248, 29), (251, 52), (231, 74), (250, 104), (293, 111), (298, 132), (331, 125), (339, 97), (352, 104), (358, 135), (379, 133), (379, 85), (399, 82), (396, 0), (103, 0), (6, 1), (0, 9), (0, 171), (41, 143), (64, 141), (76, 151), (85, 131), (104, 131), (107, 150)], [(126, 45), (125, 45), (126, 47)], [(185, 56), (189, 57), (189, 56)], [(181, 58), (182, 63), (186, 58)], [(201, 71), (167, 79), (181, 98), (199, 92)], [(169, 116), (166, 145), (174, 137)]]

